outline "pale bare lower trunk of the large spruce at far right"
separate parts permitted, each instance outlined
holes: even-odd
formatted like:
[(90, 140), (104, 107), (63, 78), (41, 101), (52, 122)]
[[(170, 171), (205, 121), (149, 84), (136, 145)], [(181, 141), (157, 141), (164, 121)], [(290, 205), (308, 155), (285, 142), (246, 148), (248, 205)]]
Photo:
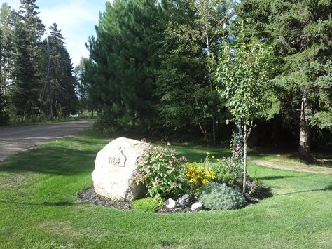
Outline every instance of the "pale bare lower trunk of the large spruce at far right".
[(301, 103), (301, 115), (300, 115), (300, 143), (298, 147), (298, 153), (300, 156), (311, 157), (310, 154), (310, 127), (307, 117), (310, 114), (310, 109), (307, 106), (307, 99), (303, 97)]

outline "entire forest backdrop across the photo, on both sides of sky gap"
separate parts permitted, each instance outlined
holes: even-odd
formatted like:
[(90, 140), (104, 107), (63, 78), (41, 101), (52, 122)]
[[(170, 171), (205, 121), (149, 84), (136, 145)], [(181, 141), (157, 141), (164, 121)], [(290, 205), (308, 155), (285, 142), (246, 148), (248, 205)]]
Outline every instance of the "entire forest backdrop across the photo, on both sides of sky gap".
[[(48, 39), (53, 116), (90, 110), (106, 132), (221, 144), (237, 123), (220, 80), (224, 55), (256, 43), (270, 55), (256, 89), (268, 90), (270, 105), (254, 119), (249, 145), (331, 152), (331, 1), (107, 2), (87, 42), (90, 56), (75, 69), (57, 25), (44, 37), (35, 1), (20, 2), (18, 11), (0, 10), (1, 124), (50, 116)], [(240, 73), (235, 95), (246, 86)], [(251, 92), (240, 102), (250, 103)]]

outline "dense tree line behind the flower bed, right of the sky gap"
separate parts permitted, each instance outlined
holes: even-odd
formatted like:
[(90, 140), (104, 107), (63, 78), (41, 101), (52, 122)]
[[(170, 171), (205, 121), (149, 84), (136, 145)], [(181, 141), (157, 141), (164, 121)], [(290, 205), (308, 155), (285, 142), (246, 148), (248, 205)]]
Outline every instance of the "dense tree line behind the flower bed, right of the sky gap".
[[(96, 34), (80, 79), (102, 128), (201, 133), (215, 144), (233, 117), (220, 94), (227, 89), (216, 89), (227, 68), (224, 48), (233, 53), (256, 41), (271, 53), (265, 86), (272, 94), (252, 142), (293, 143), (302, 154), (331, 148), (329, 1), (115, 0), (106, 3)], [(236, 95), (244, 89), (234, 82)], [(239, 103), (249, 100), (242, 96)]]

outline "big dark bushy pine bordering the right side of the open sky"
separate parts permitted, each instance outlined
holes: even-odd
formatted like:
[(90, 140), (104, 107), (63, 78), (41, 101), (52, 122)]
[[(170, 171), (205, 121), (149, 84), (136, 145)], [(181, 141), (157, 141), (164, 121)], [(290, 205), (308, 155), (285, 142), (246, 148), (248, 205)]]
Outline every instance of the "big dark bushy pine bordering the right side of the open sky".
[(153, 123), (153, 60), (159, 39), (154, 0), (106, 2), (96, 37), (88, 41), (90, 58), (84, 79), (101, 126), (125, 129)]

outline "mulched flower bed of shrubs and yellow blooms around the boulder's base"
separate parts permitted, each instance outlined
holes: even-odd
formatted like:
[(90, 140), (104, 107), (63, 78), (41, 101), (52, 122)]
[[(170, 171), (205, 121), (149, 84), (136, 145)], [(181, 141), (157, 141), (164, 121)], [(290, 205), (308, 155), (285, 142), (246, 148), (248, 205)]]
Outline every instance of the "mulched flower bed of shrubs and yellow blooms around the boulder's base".
[[(178, 213), (242, 208), (271, 196), (268, 187), (249, 175), (243, 193), (240, 189), (242, 174), (242, 164), (237, 157), (215, 159), (206, 152), (203, 161), (189, 162), (169, 146), (151, 147), (141, 158), (136, 175), (137, 183), (142, 182), (148, 189), (146, 199), (134, 203), (111, 201), (95, 194), (93, 189), (82, 191), (80, 198), (110, 208)], [(193, 203), (198, 209), (193, 208)]]

